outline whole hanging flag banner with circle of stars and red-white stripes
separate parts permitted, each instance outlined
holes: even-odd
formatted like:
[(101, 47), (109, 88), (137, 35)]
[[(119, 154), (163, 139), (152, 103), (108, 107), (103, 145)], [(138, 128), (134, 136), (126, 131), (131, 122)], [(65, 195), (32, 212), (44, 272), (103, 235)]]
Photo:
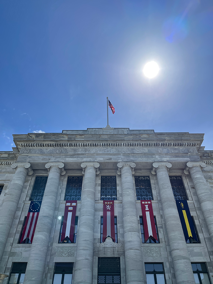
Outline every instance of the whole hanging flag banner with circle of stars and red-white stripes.
[(22, 237), (20, 243), (29, 238), (30, 242), (32, 243), (35, 227), (38, 221), (38, 214), (41, 208), (41, 201), (31, 201), (30, 208), (28, 210), (27, 219), (25, 221)]

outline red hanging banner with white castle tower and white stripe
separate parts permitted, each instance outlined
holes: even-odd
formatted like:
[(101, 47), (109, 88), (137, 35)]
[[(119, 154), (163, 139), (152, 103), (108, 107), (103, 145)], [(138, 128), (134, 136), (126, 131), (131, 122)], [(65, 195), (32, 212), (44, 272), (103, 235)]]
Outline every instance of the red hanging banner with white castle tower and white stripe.
[(152, 237), (153, 241), (157, 241), (157, 232), (154, 222), (154, 214), (152, 210), (151, 200), (141, 200), (141, 209), (143, 215), (145, 242), (148, 241), (149, 237)]

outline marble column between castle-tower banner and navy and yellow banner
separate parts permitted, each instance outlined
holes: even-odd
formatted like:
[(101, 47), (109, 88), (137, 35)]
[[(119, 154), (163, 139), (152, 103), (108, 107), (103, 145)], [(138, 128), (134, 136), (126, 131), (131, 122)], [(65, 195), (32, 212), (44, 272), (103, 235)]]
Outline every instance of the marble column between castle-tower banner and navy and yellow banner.
[(170, 167), (172, 167), (172, 165), (168, 162), (156, 162), (153, 164), (151, 173), (153, 175), (157, 174), (160, 198), (177, 284), (195, 284), (191, 261), (169, 179), (168, 170)]

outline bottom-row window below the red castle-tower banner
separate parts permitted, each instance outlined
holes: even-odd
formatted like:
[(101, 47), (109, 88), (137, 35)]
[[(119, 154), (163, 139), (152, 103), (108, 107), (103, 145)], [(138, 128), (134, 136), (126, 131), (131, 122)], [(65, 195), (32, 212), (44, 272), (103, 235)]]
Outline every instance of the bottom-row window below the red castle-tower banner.
[(146, 263), (146, 283), (147, 284), (165, 284), (164, 267), (162, 263)]

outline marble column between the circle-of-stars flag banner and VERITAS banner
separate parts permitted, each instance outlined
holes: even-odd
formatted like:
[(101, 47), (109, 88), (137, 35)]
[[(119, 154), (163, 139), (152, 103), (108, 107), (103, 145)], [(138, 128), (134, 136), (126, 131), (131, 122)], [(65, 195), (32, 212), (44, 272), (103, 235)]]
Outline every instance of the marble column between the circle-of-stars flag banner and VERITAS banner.
[(60, 175), (66, 173), (63, 163), (49, 162), (45, 167), (49, 170), (49, 176), (30, 249), (30, 256), (24, 278), (25, 284), (41, 284), (47, 249), (49, 247), (59, 179)]

